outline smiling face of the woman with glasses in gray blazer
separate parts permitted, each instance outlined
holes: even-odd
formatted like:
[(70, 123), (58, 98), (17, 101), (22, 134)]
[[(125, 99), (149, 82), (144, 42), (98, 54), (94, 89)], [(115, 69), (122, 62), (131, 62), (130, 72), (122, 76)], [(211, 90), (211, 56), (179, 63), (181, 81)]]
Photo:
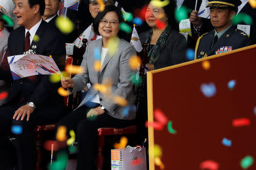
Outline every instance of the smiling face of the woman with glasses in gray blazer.
[(114, 11), (107, 12), (98, 24), (98, 32), (104, 38), (117, 36), (119, 32), (118, 15)]

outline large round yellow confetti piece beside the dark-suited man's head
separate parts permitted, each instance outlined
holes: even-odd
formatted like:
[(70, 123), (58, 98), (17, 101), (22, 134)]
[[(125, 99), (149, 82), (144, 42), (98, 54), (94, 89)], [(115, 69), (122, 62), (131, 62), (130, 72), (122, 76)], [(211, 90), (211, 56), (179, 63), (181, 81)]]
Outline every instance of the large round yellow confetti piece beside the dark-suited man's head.
[(57, 28), (64, 34), (71, 33), (74, 29), (74, 25), (68, 17), (64, 18), (63, 16), (58, 16), (55, 21)]

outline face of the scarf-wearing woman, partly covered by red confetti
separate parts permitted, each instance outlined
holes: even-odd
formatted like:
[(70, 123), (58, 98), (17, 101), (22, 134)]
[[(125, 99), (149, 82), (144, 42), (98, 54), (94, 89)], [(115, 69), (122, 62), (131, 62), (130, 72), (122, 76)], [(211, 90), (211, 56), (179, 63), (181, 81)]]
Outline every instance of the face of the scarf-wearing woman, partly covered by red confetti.
[(152, 4), (148, 4), (147, 11), (145, 14), (145, 19), (148, 26), (152, 28), (157, 28), (156, 26), (156, 19), (160, 20), (160, 22), (166, 23), (168, 22), (168, 18), (166, 13), (164, 12), (162, 7), (155, 7)]

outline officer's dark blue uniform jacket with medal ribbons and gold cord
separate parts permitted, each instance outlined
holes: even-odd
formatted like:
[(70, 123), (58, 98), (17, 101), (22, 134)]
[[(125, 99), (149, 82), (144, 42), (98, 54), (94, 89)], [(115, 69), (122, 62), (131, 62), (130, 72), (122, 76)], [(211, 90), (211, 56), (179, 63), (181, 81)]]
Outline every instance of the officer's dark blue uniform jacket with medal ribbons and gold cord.
[(216, 50), (223, 46), (231, 47), (234, 50), (250, 45), (250, 40), (246, 33), (236, 29), (236, 27), (230, 27), (212, 47), (213, 37), (214, 30), (200, 37), (196, 46), (196, 58), (212, 56)]

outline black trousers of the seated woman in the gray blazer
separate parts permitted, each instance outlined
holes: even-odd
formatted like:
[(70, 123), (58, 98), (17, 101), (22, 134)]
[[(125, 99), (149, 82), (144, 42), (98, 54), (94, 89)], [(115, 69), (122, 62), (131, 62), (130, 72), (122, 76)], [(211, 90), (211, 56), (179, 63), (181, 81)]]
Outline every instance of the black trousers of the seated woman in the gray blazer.
[(88, 107), (80, 107), (59, 122), (59, 126), (66, 126), (68, 134), (70, 130), (76, 131), (77, 170), (96, 169), (98, 128), (125, 128), (134, 124), (134, 120), (120, 120), (110, 116), (108, 112), (93, 118), (86, 118), (88, 111)]

